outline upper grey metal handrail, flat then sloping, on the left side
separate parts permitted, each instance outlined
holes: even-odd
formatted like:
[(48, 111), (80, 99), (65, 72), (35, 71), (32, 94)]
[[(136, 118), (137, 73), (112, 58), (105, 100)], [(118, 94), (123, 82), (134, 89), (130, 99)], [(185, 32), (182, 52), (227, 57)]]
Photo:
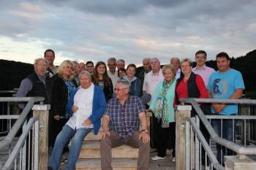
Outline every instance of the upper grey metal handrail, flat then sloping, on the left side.
[(15, 124), (12, 126), (12, 129), (10, 130), (9, 134), (7, 134), (5, 139), (0, 142), (0, 150), (3, 149), (4, 147), (7, 147), (12, 142), (12, 139), (14, 139), (15, 135), (18, 133), (18, 130), (26, 120), (26, 117), (29, 115), (31, 108), (34, 106), (34, 103), (44, 100), (45, 98), (42, 97), (0, 97), (0, 102), (29, 101), (26, 104), (26, 107), (21, 112), (20, 117), (18, 117), (18, 120), (16, 120)]

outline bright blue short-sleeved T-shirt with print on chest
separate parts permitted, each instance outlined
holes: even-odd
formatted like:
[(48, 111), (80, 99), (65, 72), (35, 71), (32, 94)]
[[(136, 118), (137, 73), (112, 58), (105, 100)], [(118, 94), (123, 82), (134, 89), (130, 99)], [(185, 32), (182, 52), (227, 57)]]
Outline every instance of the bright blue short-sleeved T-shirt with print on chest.
[[(228, 99), (236, 89), (244, 89), (244, 80), (241, 72), (229, 69), (227, 72), (214, 72), (211, 74), (207, 89), (211, 91), (211, 98)], [(214, 113), (214, 109), (211, 109)], [(238, 113), (237, 104), (228, 104), (220, 115), (232, 115)]]

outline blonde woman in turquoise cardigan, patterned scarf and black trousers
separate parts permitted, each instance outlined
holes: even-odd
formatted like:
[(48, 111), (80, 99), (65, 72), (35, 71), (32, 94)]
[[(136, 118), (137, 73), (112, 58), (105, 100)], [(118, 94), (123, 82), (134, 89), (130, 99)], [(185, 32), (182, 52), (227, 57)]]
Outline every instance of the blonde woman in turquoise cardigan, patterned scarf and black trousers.
[[(154, 113), (154, 117), (157, 117), (157, 148), (158, 154), (151, 158), (151, 160), (157, 161), (164, 159), (166, 150), (170, 145), (173, 145), (173, 158), (175, 158), (175, 120), (174, 120), (174, 97), (176, 86), (176, 69), (167, 64), (162, 68), (162, 74), (165, 77), (163, 81), (160, 81), (157, 88), (154, 91), (154, 97), (152, 98), (149, 109)], [(167, 137), (170, 136), (170, 137)], [(174, 159), (173, 159), (174, 160)]]

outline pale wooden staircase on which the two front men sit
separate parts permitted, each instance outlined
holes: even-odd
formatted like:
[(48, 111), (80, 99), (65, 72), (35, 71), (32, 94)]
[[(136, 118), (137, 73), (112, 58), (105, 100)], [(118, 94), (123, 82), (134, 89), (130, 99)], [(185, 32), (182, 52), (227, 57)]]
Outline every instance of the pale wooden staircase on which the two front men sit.
[[(99, 130), (99, 134), (102, 129)], [(79, 170), (100, 170), (100, 142), (99, 134), (91, 131), (83, 141), (83, 146), (76, 163)], [(113, 170), (136, 170), (138, 161), (138, 148), (122, 145), (112, 149)]]

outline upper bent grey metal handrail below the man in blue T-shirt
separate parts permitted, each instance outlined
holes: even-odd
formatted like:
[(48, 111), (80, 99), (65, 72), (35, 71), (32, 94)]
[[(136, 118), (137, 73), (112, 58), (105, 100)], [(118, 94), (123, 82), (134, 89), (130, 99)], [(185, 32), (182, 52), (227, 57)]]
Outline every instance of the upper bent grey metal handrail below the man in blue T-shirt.
[[(237, 152), (238, 155), (256, 155), (256, 147), (244, 147), (241, 145), (238, 145), (236, 143), (230, 142), (226, 139), (222, 139), (219, 137), (214, 131), (214, 128), (212, 128), (211, 123), (206, 118), (206, 115), (203, 114), (202, 109), (200, 109), (200, 105), (197, 102), (200, 103), (228, 103), (228, 104), (256, 104), (256, 100), (247, 100), (247, 99), (213, 99), (213, 98), (182, 98), (182, 102), (192, 104), (192, 107), (195, 109), (195, 112), (197, 112), (198, 117), (200, 117), (200, 120), (202, 121), (203, 125), (205, 125), (208, 133), (211, 135), (211, 139), (213, 139), (218, 144), (221, 144), (222, 146), (225, 146), (229, 148), (230, 150), (233, 150)], [(248, 102), (245, 102), (248, 101)]]

